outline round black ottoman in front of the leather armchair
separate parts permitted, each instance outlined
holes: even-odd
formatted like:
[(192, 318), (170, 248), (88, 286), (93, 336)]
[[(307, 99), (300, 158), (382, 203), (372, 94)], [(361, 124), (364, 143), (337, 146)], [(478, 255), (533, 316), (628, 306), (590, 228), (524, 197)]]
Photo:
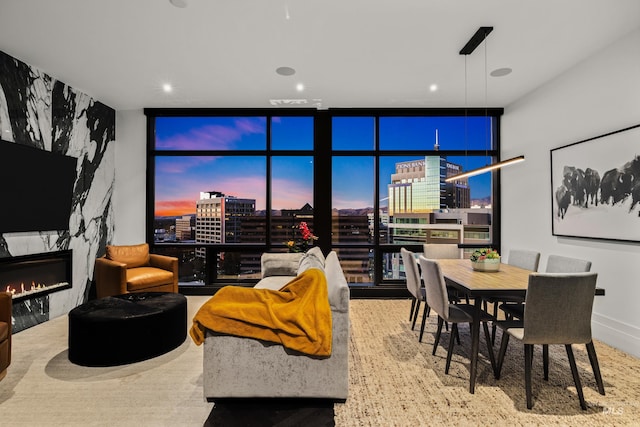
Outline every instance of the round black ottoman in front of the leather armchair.
[(69, 360), (82, 366), (139, 362), (187, 337), (187, 299), (171, 292), (100, 298), (69, 312)]

